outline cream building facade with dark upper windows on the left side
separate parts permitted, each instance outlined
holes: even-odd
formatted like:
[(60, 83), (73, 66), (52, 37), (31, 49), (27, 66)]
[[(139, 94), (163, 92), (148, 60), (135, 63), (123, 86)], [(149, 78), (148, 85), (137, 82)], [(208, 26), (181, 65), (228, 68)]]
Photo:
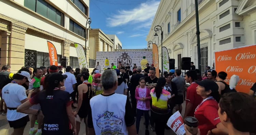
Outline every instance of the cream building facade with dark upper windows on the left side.
[(89, 0), (0, 0), (0, 5), (1, 67), (9, 64), (14, 72), (49, 66), (50, 41), (59, 64), (65, 56), (79, 68), (74, 43), (84, 46), (88, 40)]

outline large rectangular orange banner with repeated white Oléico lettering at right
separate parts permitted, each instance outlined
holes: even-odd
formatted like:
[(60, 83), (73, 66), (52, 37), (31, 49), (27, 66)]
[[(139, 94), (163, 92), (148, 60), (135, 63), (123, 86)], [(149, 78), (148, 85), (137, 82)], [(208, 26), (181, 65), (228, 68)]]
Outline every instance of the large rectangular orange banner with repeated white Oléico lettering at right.
[(228, 74), (226, 83), (229, 84), (232, 75), (239, 76), (236, 90), (248, 93), (256, 82), (256, 45), (237, 49), (215, 52), (215, 69)]

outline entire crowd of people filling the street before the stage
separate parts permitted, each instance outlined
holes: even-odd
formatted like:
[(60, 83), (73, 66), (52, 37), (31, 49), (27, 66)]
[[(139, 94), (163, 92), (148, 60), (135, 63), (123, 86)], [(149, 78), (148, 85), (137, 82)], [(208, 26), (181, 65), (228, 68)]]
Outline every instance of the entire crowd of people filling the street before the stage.
[(12, 135), (23, 135), (28, 121), (29, 135), (78, 135), (82, 121), (87, 135), (138, 135), (142, 116), (145, 135), (164, 135), (173, 109), (182, 112), (186, 91), (183, 118), (199, 121), (198, 135), (255, 133), (256, 83), (248, 94), (239, 93), (224, 82), (226, 72), (207, 67), (202, 77), (193, 64), (185, 77), (176, 69), (159, 78), (148, 63), (144, 70), (134, 64), (133, 71), (119, 63), (103, 73), (99, 63), (91, 73), (71, 66), (62, 73), (62, 66), (51, 65), (14, 74), (4, 65), (0, 113), (7, 114)]

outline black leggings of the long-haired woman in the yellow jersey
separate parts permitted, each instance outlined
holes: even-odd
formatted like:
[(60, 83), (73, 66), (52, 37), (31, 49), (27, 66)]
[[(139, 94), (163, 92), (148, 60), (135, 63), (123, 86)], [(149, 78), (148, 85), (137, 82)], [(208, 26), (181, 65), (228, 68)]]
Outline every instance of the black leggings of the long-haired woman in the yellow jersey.
[(169, 114), (158, 114), (151, 111), (151, 118), (155, 122), (156, 135), (164, 135)]

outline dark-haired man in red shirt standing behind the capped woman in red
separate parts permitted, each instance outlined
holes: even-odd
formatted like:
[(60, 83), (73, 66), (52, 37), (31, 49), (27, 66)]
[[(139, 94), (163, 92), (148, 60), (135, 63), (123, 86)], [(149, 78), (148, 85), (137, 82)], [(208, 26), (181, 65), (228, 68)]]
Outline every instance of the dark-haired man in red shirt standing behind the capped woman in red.
[(187, 88), (187, 96), (186, 96), (186, 109), (183, 118), (186, 117), (194, 117), (195, 109), (197, 105), (201, 103), (203, 98), (197, 94), (196, 89), (198, 84), (195, 82), (197, 79), (197, 72), (194, 70), (187, 71), (185, 80), (190, 86)]

